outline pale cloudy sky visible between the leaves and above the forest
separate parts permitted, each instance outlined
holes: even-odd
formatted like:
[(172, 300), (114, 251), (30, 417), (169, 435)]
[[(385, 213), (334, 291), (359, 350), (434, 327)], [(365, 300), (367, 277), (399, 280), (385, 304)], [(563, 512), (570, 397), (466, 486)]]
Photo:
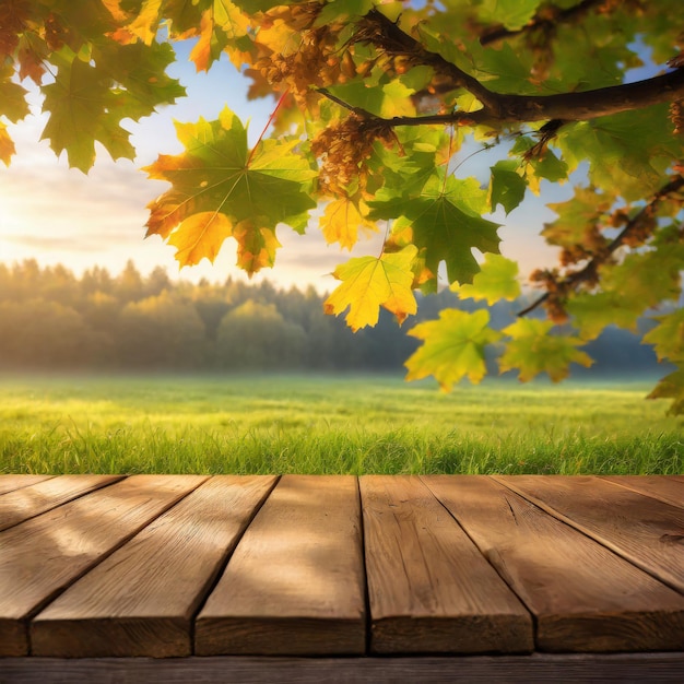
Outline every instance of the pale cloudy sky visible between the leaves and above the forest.
[[(164, 192), (168, 184), (150, 180), (140, 167), (151, 164), (157, 154), (177, 154), (181, 148), (176, 140), (173, 120), (196, 121), (200, 116), (211, 120), (228, 105), (243, 121), (250, 120), (250, 139), (256, 141), (273, 108), (272, 99), (247, 101), (248, 81), (227, 61), (222, 60), (207, 73), (196, 73), (188, 61), (188, 45), (176, 46), (178, 61), (168, 73), (187, 89), (187, 97), (176, 105), (160, 108), (158, 114), (135, 123), (126, 121), (131, 142), (138, 152), (134, 161), (113, 162), (97, 146), (97, 160), (89, 175), (70, 169), (66, 153), (57, 158), (48, 141), (40, 141), (47, 117), (40, 114), (40, 95), (36, 89), (30, 98), (32, 115), (9, 132), (16, 145), (16, 155), (9, 168), (0, 164), (0, 262), (11, 264), (35, 259), (40, 266), (61, 263), (76, 274), (94, 266), (105, 267), (113, 274), (120, 272), (132, 259), (146, 274), (156, 267), (167, 270), (173, 279), (197, 282), (207, 278), (223, 282), (226, 278), (246, 279), (235, 266), (235, 243), (224, 243), (213, 264), (203, 260), (197, 267), (179, 271), (174, 248), (158, 236), (144, 238), (148, 220), (146, 204)], [(30, 87), (30, 82), (23, 83)], [(477, 154), (467, 160), (459, 175), (475, 175), (484, 181), (488, 166), (500, 151)], [(524, 274), (539, 266), (552, 263), (555, 252), (546, 247), (539, 232), (554, 214), (544, 207), (546, 201), (569, 197), (569, 188), (554, 189), (553, 197), (530, 197), (506, 217), (503, 213), (492, 220), (504, 224), (499, 229), (504, 255), (517, 259)], [(274, 269), (263, 269), (252, 282), (269, 280), (275, 285), (330, 291), (337, 281), (331, 273), (350, 252), (338, 245), (326, 245), (321, 234), (311, 226), (299, 236), (287, 226), (276, 232), (283, 248), (279, 250)], [(351, 256), (379, 255), (382, 235), (362, 240)]]

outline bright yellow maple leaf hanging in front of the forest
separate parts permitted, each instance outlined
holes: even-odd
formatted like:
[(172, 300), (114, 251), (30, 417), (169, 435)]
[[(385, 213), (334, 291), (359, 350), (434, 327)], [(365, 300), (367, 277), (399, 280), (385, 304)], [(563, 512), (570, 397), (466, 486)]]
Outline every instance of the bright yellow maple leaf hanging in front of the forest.
[(354, 332), (378, 322), (380, 306), (401, 323), (415, 314), (417, 303), (411, 291), (411, 266), (417, 249), (413, 245), (401, 251), (376, 257), (357, 257), (339, 266), (333, 275), (342, 281), (323, 303), (326, 314), (340, 315), (349, 307), (346, 323)]

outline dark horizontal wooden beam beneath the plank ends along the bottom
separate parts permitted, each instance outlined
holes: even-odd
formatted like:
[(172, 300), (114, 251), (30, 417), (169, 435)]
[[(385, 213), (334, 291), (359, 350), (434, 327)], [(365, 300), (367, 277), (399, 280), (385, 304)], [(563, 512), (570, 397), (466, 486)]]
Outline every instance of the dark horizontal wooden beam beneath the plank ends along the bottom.
[(8, 658), (3, 684), (682, 684), (684, 653), (611, 653), (409, 658)]

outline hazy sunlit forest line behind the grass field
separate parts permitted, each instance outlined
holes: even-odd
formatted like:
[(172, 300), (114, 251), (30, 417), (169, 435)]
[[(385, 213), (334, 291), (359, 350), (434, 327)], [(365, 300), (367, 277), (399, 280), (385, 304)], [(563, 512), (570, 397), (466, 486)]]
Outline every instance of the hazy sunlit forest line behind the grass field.
[[(445, 288), (422, 297), (418, 315), (402, 327), (382, 310), (375, 328), (353, 333), (323, 314), (326, 296), (268, 281), (174, 282), (162, 268), (142, 275), (132, 261), (116, 275), (94, 267), (80, 278), (35, 260), (0, 263), (0, 369), (400, 372), (418, 346), (406, 334), (415, 322), (447, 307), (483, 306)], [(490, 315), (505, 326), (524, 306), (524, 298), (499, 303)], [(594, 365), (575, 367), (575, 376), (663, 373), (650, 346), (614, 327), (585, 350)], [(487, 361), (496, 372), (495, 358)]]

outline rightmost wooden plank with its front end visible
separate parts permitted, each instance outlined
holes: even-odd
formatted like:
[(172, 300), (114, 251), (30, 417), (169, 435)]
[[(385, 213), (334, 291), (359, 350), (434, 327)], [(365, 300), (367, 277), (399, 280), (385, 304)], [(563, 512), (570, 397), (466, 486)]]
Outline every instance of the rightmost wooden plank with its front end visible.
[(684, 649), (684, 597), (497, 482), (423, 477), (533, 612), (544, 651)]

